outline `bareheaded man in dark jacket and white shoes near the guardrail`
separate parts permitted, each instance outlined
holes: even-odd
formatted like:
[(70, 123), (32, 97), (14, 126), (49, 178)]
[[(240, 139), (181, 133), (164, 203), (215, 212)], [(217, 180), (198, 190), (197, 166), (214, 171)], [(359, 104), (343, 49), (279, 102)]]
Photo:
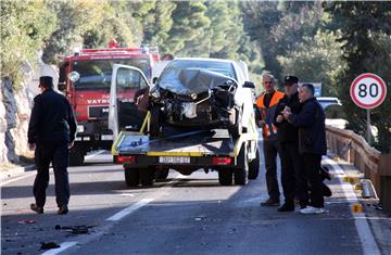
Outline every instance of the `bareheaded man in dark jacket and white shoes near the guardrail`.
[(314, 97), (314, 86), (304, 84), (299, 89), (302, 110), (299, 114), (287, 107), (282, 115), (299, 128), (299, 152), (303, 156), (305, 176), (310, 184), (310, 205), (302, 214), (321, 214), (324, 209), (323, 181), (320, 176), (321, 155), (326, 154), (325, 112)]

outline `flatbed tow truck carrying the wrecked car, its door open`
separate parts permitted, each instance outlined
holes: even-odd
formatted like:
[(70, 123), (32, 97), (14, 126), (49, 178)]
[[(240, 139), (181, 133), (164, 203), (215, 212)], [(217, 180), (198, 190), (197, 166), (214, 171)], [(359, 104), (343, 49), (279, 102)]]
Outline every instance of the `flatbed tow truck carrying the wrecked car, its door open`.
[[(128, 80), (128, 81), (127, 81)], [(114, 133), (112, 154), (123, 164), (125, 182), (128, 187), (152, 186), (164, 180), (168, 170), (182, 175), (203, 168), (205, 173), (218, 171), (223, 186), (244, 186), (249, 179), (256, 179), (260, 169), (258, 133), (254, 112), (248, 118), (248, 128), (234, 138), (227, 129), (200, 130), (159, 138), (149, 135), (151, 114), (148, 112), (138, 131), (127, 130), (127, 106), (136, 100), (124, 97), (131, 82), (149, 81), (142, 72), (134, 66), (114, 65), (110, 90), (109, 128)], [(248, 84), (249, 85), (249, 84)], [(141, 86), (139, 86), (141, 87)], [(253, 85), (248, 87), (253, 89)]]

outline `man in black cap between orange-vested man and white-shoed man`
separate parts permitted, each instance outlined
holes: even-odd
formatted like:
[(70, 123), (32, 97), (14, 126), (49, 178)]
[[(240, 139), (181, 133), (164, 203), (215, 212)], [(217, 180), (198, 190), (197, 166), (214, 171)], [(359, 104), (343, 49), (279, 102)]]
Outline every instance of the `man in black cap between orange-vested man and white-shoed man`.
[(302, 158), (299, 154), (299, 131), (295, 126), (286, 120), (282, 112), (286, 109), (294, 114), (299, 114), (301, 104), (299, 102), (298, 82), (295, 76), (286, 76), (283, 79), (286, 95), (278, 102), (274, 124), (277, 126), (278, 140), (281, 144), (281, 183), (285, 203), (278, 212), (293, 212), (294, 196), (298, 195), (301, 206), (306, 206), (306, 194)]

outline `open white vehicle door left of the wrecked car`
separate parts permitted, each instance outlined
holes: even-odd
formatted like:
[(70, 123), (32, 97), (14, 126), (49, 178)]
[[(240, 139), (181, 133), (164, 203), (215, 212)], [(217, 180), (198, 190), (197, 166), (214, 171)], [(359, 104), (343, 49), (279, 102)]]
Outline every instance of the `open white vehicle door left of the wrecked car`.
[(146, 112), (138, 104), (148, 94), (149, 82), (142, 71), (128, 65), (114, 64), (110, 87), (109, 129), (114, 140), (122, 130), (138, 131)]

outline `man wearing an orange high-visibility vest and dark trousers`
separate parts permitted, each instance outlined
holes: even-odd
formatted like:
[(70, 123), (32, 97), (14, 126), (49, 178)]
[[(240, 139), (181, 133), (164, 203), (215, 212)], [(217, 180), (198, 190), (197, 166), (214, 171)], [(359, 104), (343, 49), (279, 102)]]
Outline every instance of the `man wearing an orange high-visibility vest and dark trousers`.
[[(256, 100), (260, 119), (256, 124), (262, 128), (263, 151), (265, 155), (266, 187), (268, 199), (261, 203), (262, 206), (279, 205), (279, 187), (277, 180), (277, 153), (280, 153), (280, 145), (277, 139), (277, 127), (273, 124), (277, 104), (283, 98), (283, 93), (275, 89), (275, 78), (270, 74), (262, 76), (262, 84), (265, 92)], [(281, 166), (283, 167), (283, 166)]]

